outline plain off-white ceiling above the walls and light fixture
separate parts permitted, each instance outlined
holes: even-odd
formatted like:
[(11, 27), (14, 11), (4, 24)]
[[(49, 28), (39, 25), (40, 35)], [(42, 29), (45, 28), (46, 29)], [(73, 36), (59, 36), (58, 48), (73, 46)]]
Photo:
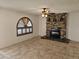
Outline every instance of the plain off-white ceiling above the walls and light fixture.
[(51, 13), (79, 11), (79, 0), (0, 0), (0, 7), (40, 14), (42, 8)]

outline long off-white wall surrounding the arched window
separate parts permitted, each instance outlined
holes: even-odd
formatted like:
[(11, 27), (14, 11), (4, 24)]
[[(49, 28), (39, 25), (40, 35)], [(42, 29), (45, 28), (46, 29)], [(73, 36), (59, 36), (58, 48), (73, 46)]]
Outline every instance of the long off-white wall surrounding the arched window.
[[(27, 16), (32, 20), (33, 33), (17, 37), (16, 24), (23, 16)], [(36, 15), (24, 14), (0, 8), (0, 48), (38, 36), (39, 25), (37, 24), (39, 24), (39, 21), (38, 16)]]

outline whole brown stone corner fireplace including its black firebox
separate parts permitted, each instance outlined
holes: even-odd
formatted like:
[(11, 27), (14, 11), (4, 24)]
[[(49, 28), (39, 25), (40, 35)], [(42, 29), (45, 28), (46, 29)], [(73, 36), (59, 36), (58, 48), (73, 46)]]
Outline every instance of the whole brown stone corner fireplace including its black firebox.
[(46, 20), (46, 36), (52, 39), (66, 38), (67, 13), (49, 13)]

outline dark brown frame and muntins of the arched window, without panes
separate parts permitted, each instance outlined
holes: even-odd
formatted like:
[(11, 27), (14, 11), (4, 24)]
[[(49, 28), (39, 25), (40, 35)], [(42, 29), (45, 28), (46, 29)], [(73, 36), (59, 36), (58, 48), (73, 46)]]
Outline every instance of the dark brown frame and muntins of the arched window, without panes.
[[(24, 23), (24, 20), (23, 20), (23, 18), (26, 18), (27, 20), (29, 20), (30, 22), (31, 22), (31, 25), (32, 26), (26, 26), (25, 24), (25, 26), (24, 27), (18, 27), (18, 24), (19, 24), (19, 22), (22, 20), (22, 22)], [(30, 28), (32, 29), (32, 31), (30, 32)], [(18, 30), (19, 29), (21, 29), (21, 34), (18, 34)], [(23, 33), (23, 29), (25, 29), (25, 33)], [(29, 29), (29, 32), (27, 32), (26, 30), (27, 29)], [(26, 34), (30, 34), (30, 33), (33, 33), (33, 23), (32, 23), (32, 21), (28, 18), (28, 17), (22, 17), (22, 18), (20, 18), (19, 20), (18, 20), (18, 22), (17, 22), (17, 26), (16, 26), (16, 31), (17, 31), (17, 36), (22, 36), (22, 35), (26, 35)]]

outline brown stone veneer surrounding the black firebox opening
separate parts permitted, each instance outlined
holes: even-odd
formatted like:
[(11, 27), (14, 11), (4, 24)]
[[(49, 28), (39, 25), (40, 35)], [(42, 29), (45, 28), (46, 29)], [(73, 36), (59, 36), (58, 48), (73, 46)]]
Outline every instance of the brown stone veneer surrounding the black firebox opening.
[(61, 35), (66, 36), (67, 13), (49, 13), (46, 21), (46, 35), (49, 37), (49, 31), (52, 28), (61, 28)]

